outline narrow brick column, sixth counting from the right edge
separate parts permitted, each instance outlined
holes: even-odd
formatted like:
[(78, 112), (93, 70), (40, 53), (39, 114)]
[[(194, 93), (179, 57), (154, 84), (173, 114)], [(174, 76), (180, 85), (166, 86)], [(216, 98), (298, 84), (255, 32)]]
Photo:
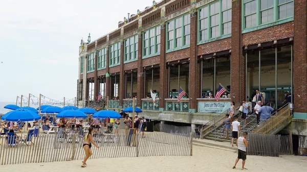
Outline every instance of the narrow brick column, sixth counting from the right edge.
[(124, 106), (123, 99), (125, 99), (125, 70), (124, 70), (124, 41), (120, 44), (120, 69), (119, 69), (119, 108)]

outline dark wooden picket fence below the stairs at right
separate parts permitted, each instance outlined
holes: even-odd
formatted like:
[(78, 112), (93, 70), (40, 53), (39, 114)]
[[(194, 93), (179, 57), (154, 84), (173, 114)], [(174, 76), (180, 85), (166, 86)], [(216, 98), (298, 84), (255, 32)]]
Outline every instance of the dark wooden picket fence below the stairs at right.
[(248, 134), (247, 155), (271, 156), (293, 155), (292, 135)]

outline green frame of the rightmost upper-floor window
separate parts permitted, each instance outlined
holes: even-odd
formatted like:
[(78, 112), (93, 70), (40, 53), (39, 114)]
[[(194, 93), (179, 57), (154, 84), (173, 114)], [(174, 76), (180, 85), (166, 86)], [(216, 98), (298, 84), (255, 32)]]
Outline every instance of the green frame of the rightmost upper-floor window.
[[(249, 15), (252, 15), (252, 14), (245, 15), (245, 5), (247, 3), (250, 3), (250, 2), (253, 2), (253, 1), (256, 2), (256, 8), (257, 8), (256, 13), (253, 13), (253, 14), (256, 14), (256, 26), (246, 28), (245, 18), (246, 18), (246, 16), (249, 16)], [(286, 3), (280, 4), (280, 5), (278, 5), (278, 0), (270, 0), (270, 1), (274, 1), (273, 7), (269, 7), (269, 8), (266, 8), (264, 10), (261, 10), (261, 4), (260, 4), (261, 0), (251, 0), (251, 1), (248, 1), (248, 2), (242, 1), (242, 33), (247, 33), (247, 32), (256, 31), (256, 30), (259, 30), (259, 29), (272, 27), (272, 26), (275, 26), (275, 25), (278, 25), (278, 24), (281, 24), (281, 23), (292, 21), (294, 19), (294, 16), (281, 18), (281, 19), (278, 18), (279, 17), (278, 16), (279, 6), (293, 3), (293, 1), (286, 2)], [(268, 9), (273, 9), (273, 21), (261, 23), (261, 12), (266, 11)]]

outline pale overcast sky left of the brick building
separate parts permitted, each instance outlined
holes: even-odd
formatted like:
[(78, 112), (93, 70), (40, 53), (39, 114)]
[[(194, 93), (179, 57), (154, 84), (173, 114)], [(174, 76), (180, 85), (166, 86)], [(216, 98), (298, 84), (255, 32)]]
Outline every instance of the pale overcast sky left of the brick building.
[[(157, 3), (159, 1), (156, 1)], [(6, 0), (0, 7), (0, 102), (77, 95), (80, 40), (118, 28), (152, 0)], [(117, 7), (116, 7), (117, 6)]]

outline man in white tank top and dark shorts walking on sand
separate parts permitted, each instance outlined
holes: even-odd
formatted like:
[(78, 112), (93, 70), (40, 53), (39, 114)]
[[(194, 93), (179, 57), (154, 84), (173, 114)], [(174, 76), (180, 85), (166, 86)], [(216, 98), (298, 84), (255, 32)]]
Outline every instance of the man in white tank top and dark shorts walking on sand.
[(244, 167), (246, 161), (246, 148), (248, 147), (249, 140), (246, 139), (247, 132), (244, 132), (241, 137), (238, 138), (238, 157), (234, 162), (234, 166), (232, 169), (235, 168), (236, 164), (239, 162), (239, 159), (242, 159), (242, 170), (247, 169)]

